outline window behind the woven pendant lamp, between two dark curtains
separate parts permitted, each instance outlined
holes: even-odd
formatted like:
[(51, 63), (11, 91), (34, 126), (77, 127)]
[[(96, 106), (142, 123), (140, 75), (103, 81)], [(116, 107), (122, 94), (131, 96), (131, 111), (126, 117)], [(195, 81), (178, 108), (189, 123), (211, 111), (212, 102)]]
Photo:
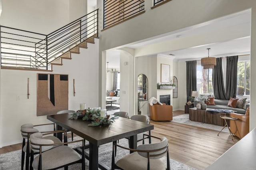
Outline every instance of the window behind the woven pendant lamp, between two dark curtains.
[(199, 94), (212, 94), (212, 68), (202, 69), (196, 66), (196, 87)]

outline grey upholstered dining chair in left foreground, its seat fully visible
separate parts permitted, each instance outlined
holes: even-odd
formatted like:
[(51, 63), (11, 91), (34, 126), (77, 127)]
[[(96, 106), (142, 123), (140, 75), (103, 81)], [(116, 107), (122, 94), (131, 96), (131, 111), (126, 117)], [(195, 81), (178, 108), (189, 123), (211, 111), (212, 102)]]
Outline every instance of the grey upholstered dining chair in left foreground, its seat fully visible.
[[(52, 132), (52, 133), (57, 133)], [(66, 133), (66, 132), (65, 132)], [(49, 134), (49, 133), (48, 133)], [(48, 135), (44, 134), (44, 135)], [(82, 156), (74, 149), (68, 146), (70, 143), (82, 142)], [(40, 132), (33, 133), (30, 136), (31, 149), (39, 152), (39, 155), (33, 160), (32, 167), (38, 170), (55, 170), (69, 165), (82, 163), (82, 170), (85, 170), (84, 158), (84, 140), (54, 143), (51, 139), (44, 139)]]

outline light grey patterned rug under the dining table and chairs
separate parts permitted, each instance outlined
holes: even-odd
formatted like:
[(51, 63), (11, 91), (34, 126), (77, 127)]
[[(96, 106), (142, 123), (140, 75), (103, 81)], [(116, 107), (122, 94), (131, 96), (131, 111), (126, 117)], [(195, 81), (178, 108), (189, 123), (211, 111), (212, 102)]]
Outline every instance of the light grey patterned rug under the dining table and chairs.
[[(80, 137), (74, 137), (74, 141), (82, 139)], [(69, 139), (70, 141), (70, 139)], [(86, 141), (88, 143), (88, 141)], [(119, 144), (125, 147), (128, 147), (128, 140), (121, 139)], [(70, 144), (70, 147), (78, 147), (81, 144)], [(140, 144), (139, 144), (140, 145)], [(86, 152), (89, 152), (88, 149)], [(115, 160), (122, 158), (124, 155), (129, 154), (128, 150), (121, 148), (117, 149), (117, 155)], [(106, 166), (111, 167), (112, 160), (112, 143), (107, 143), (105, 145), (100, 145), (99, 147), (99, 161), (104, 163)], [(161, 160), (166, 164), (166, 157), (162, 157)], [(195, 170), (185, 164), (182, 164), (176, 160), (170, 159), (171, 170)], [(0, 170), (20, 170), (21, 167), (21, 150), (16, 150), (8, 152), (5, 154), (0, 154)], [(81, 164), (74, 164), (68, 166), (69, 170), (81, 170)], [(25, 168), (24, 168), (25, 169)], [(86, 160), (86, 170), (89, 169), (89, 162)], [(60, 170), (64, 170), (61, 168)]]

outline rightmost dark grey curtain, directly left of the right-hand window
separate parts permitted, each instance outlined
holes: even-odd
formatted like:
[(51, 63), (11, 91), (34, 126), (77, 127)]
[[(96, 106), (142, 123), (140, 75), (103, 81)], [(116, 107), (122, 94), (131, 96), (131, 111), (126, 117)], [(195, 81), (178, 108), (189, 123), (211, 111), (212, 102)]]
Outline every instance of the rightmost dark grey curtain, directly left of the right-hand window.
[(227, 57), (226, 98), (236, 98), (238, 55)]

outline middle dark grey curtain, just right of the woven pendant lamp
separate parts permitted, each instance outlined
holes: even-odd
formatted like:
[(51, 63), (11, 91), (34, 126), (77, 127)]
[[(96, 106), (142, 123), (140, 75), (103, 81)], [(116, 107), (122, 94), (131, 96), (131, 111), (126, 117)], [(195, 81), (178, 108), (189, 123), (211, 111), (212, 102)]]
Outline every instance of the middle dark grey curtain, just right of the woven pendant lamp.
[(216, 59), (217, 64), (213, 69), (213, 93), (215, 99), (228, 100), (224, 89), (223, 71), (222, 71), (222, 58)]

